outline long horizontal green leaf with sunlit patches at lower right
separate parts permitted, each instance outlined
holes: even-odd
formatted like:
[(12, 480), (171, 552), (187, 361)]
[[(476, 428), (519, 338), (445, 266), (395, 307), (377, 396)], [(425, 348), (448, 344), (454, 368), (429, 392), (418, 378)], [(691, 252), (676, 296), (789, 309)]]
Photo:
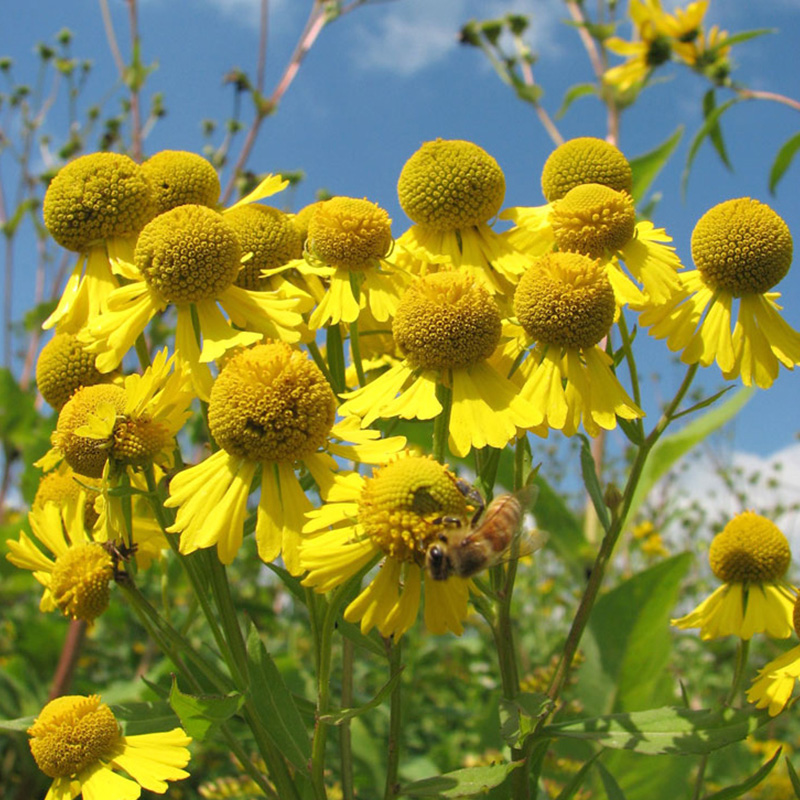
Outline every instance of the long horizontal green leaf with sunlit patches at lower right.
[(645, 755), (706, 755), (745, 739), (770, 721), (767, 711), (667, 706), (547, 725), (543, 736), (592, 741)]

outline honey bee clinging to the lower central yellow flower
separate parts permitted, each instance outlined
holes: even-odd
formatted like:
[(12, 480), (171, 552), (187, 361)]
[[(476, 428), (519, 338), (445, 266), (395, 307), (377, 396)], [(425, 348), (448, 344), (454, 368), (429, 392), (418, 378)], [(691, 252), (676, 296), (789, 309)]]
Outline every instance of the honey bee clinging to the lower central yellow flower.
[[(447, 580), (451, 575), (471, 578), (508, 557), (535, 493), (535, 487), (526, 486), (515, 494), (496, 497), (485, 509), (480, 499), (477, 512), (467, 522), (459, 517), (434, 520), (442, 530), (425, 553), (428, 575), (437, 581)], [(474, 499), (475, 494), (469, 497)], [(520, 555), (538, 550), (546, 536), (535, 531), (525, 534), (525, 539), (520, 543)]]

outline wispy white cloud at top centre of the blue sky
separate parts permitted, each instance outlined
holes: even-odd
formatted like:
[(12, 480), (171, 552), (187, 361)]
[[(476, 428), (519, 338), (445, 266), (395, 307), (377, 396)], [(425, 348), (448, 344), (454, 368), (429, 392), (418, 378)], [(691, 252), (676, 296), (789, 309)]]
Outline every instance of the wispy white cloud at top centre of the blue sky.
[(458, 32), (470, 19), (496, 19), (511, 12), (532, 17), (526, 38), (534, 50), (553, 47), (552, 28), (563, 13), (562, 4), (553, 0), (398, 0), (380, 6), (373, 27), (357, 26), (355, 60), (364, 69), (413, 75), (455, 50)]

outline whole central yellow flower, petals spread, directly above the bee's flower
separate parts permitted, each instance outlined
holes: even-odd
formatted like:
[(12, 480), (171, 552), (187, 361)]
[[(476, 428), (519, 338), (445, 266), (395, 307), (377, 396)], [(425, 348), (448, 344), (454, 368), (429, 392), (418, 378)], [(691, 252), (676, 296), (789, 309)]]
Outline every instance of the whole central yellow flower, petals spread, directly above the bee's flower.
[[(392, 323), (405, 359), (371, 383), (342, 396), (342, 414), (367, 427), (379, 417), (433, 419), (443, 411), (437, 396), (452, 392), (450, 450), (505, 447), (533, 414), (519, 387), (488, 359), (501, 338), (500, 309), (484, 284), (469, 273), (442, 271), (418, 278), (403, 295)], [(399, 395), (399, 396), (398, 396)]]

